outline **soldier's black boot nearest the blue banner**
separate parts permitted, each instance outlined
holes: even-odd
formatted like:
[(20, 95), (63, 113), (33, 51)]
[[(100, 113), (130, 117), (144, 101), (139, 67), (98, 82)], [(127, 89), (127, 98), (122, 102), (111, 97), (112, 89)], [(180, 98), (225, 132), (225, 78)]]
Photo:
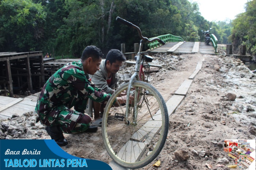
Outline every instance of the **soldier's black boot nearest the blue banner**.
[(45, 130), (59, 146), (68, 145), (68, 141), (63, 136), (63, 132), (60, 129), (60, 126), (46, 126)]

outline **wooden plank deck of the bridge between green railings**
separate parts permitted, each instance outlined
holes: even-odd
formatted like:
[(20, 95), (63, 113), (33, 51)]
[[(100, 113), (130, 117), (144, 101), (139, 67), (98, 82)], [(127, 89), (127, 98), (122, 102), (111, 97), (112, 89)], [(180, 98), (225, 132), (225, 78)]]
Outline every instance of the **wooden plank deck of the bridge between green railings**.
[(200, 52), (201, 54), (215, 55), (212, 44), (206, 45), (202, 42), (169, 42), (163, 46), (155, 47), (148, 50), (152, 53), (167, 53), (167, 54), (195, 54)]

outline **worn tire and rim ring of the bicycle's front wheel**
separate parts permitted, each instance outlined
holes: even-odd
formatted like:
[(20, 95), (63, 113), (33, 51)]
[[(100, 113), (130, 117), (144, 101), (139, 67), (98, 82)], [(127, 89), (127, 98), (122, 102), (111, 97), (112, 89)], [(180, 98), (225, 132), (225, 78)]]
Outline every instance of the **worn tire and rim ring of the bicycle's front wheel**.
[[(127, 86), (128, 86), (129, 83), (126, 83), (124, 84), (123, 86), (121, 86), (120, 88), (118, 88), (116, 90), (116, 94), (118, 94), (119, 91), (125, 89)], [(159, 139), (158, 143), (157, 143), (157, 148), (154, 149), (154, 153), (147, 157), (145, 160), (143, 159), (143, 161), (139, 161), (139, 162), (135, 162), (135, 163), (127, 163), (127, 162), (124, 162), (124, 161), (120, 161), (120, 159), (117, 158), (116, 155), (113, 154), (113, 152), (111, 151), (111, 149), (109, 148), (109, 141), (106, 137), (106, 134), (105, 134), (105, 131), (106, 131), (106, 128), (107, 128), (107, 118), (109, 114), (108, 110), (108, 106), (109, 104), (111, 103), (112, 104), (112, 101), (113, 101), (113, 98), (116, 98), (115, 95), (112, 95), (111, 98), (109, 99), (107, 105), (106, 105), (106, 109), (104, 111), (104, 114), (103, 114), (103, 120), (102, 120), (102, 137), (103, 137), (103, 143), (106, 147), (106, 150), (108, 152), (108, 154), (110, 155), (110, 157), (120, 166), (123, 166), (125, 168), (129, 168), (129, 169), (137, 169), (137, 168), (140, 168), (140, 167), (143, 167), (143, 166), (146, 166), (148, 165), (149, 163), (151, 163), (158, 155), (159, 153), (161, 152), (164, 144), (165, 144), (165, 141), (166, 141), (166, 138), (167, 138), (167, 134), (168, 134), (168, 127), (169, 127), (169, 115), (168, 115), (168, 111), (167, 111), (167, 107), (166, 107), (166, 104), (165, 104), (165, 101), (163, 100), (161, 94), (149, 83), (146, 83), (146, 82), (142, 82), (142, 81), (135, 81), (133, 82), (134, 85), (139, 85), (139, 86), (144, 86), (143, 88), (146, 88), (147, 90), (150, 90), (153, 92), (155, 98), (157, 98), (157, 101), (159, 102), (159, 104), (161, 105), (161, 114), (162, 114), (162, 119), (164, 121), (163, 123), (163, 131), (161, 133), (161, 138)], [(111, 106), (111, 105), (110, 105)]]

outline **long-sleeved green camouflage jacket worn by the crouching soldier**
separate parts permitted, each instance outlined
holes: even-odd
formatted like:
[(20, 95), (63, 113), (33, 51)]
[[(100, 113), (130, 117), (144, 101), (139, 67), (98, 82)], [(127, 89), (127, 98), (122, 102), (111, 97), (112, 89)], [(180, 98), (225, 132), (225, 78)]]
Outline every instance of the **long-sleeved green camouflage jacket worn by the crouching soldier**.
[[(106, 102), (111, 94), (106, 94), (101, 88), (95, 87), (88, 74), (84, 73), (83, 64), (79, 62), (68, 63), (56, 71), (45, 83), (37, 100), (35, 111), (44, 124), (48, 117), (57, 118), (51, 111), (60, 106), (75, 107), (76, 111), (84, 112), (87, 99), (95, 102)], [(81, 101), (79, 104), (77, 101)]]

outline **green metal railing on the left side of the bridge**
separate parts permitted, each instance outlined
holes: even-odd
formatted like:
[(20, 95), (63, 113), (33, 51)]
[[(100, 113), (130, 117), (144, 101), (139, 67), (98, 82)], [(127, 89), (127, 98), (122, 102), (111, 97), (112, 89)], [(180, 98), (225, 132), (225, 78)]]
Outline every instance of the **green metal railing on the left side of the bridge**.
[[(163, 40), (165, 43), (184, 41), (181, 37), (175, 36), (175, 35), (172, 35), (172, 34), (160, 35), (160, 36), (157, 36), (157, 37), (159, 39)], [(153, 38), (149, 38), (149, 39), (153, 39)], [(152, 48), (154, 49), (156, 47), (159, 47), (160, 45), (161, 44), (158, 41), (153, 41), (153, 42), (149, 43), (147, 46), (149, 46), (149, 49), (151, 50)]]

